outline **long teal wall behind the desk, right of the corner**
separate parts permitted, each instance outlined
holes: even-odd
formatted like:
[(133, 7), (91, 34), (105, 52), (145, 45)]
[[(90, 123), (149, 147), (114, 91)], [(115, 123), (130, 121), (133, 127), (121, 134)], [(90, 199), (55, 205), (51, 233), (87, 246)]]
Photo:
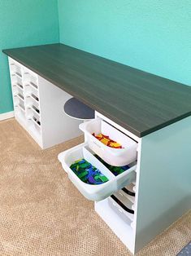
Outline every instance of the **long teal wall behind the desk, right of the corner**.
[(60, 41), (191, 85), (190, 0), (59, 0)]

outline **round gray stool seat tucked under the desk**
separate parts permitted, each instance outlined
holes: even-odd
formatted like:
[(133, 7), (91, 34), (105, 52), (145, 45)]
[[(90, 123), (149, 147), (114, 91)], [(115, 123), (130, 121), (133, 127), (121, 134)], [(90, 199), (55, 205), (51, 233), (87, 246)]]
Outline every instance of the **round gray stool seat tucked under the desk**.
[(63, 106), (63, 110), (67, 116), (76, 119), (89, 120), (94, 118), (94, 110), (76, 98), (68, 99)]

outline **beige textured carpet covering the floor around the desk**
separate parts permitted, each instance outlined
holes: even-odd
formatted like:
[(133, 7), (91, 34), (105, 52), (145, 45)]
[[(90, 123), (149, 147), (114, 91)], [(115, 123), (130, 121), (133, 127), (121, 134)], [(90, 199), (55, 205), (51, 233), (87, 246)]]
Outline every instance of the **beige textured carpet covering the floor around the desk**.
[[(57, 160), (81, 141), (42, 151), (14, 119), (0, 122), (0, 255), (130, 255)], [(190, 239), (191, 213), (138, 255), (176, 255)]]

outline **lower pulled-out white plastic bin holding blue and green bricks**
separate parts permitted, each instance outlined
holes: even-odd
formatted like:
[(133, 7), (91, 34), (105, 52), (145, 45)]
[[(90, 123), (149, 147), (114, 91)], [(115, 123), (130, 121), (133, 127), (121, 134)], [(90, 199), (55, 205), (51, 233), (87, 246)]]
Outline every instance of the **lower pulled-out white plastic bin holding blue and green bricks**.
[[(106, 183), (99, 185), (88, 184), (81, 181), (76, 174), (72, 171), (70, 166), (81, 158), (89, 161), (93, 166), (102, 172), (109, 179)], [(63, 169), (67, 172), (69, 179), (78, 188), (78, 190), (89, 200), (101, 201), (112, 193), (118, 191), (120, 188), (124, 188), (136, 179), (136, 167), (132, 166), (124, 173), (115, 176), (110, 170), (103, 166), (96, 157), (93, 156), (92, 152), (89, 151), (88, 144), (82, 143), (75, 148), (71, 148), (65, 152), (59, 154), (59, 161), (62, 163)]]

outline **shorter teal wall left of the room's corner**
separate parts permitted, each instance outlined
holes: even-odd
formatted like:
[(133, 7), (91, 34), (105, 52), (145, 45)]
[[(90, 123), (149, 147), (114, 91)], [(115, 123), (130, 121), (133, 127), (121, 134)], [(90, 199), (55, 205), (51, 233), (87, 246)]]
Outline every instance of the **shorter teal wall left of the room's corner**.
[(13, 109), (2, 49), (59, 42), (57, 0), (0, 0), (0, 113)]

